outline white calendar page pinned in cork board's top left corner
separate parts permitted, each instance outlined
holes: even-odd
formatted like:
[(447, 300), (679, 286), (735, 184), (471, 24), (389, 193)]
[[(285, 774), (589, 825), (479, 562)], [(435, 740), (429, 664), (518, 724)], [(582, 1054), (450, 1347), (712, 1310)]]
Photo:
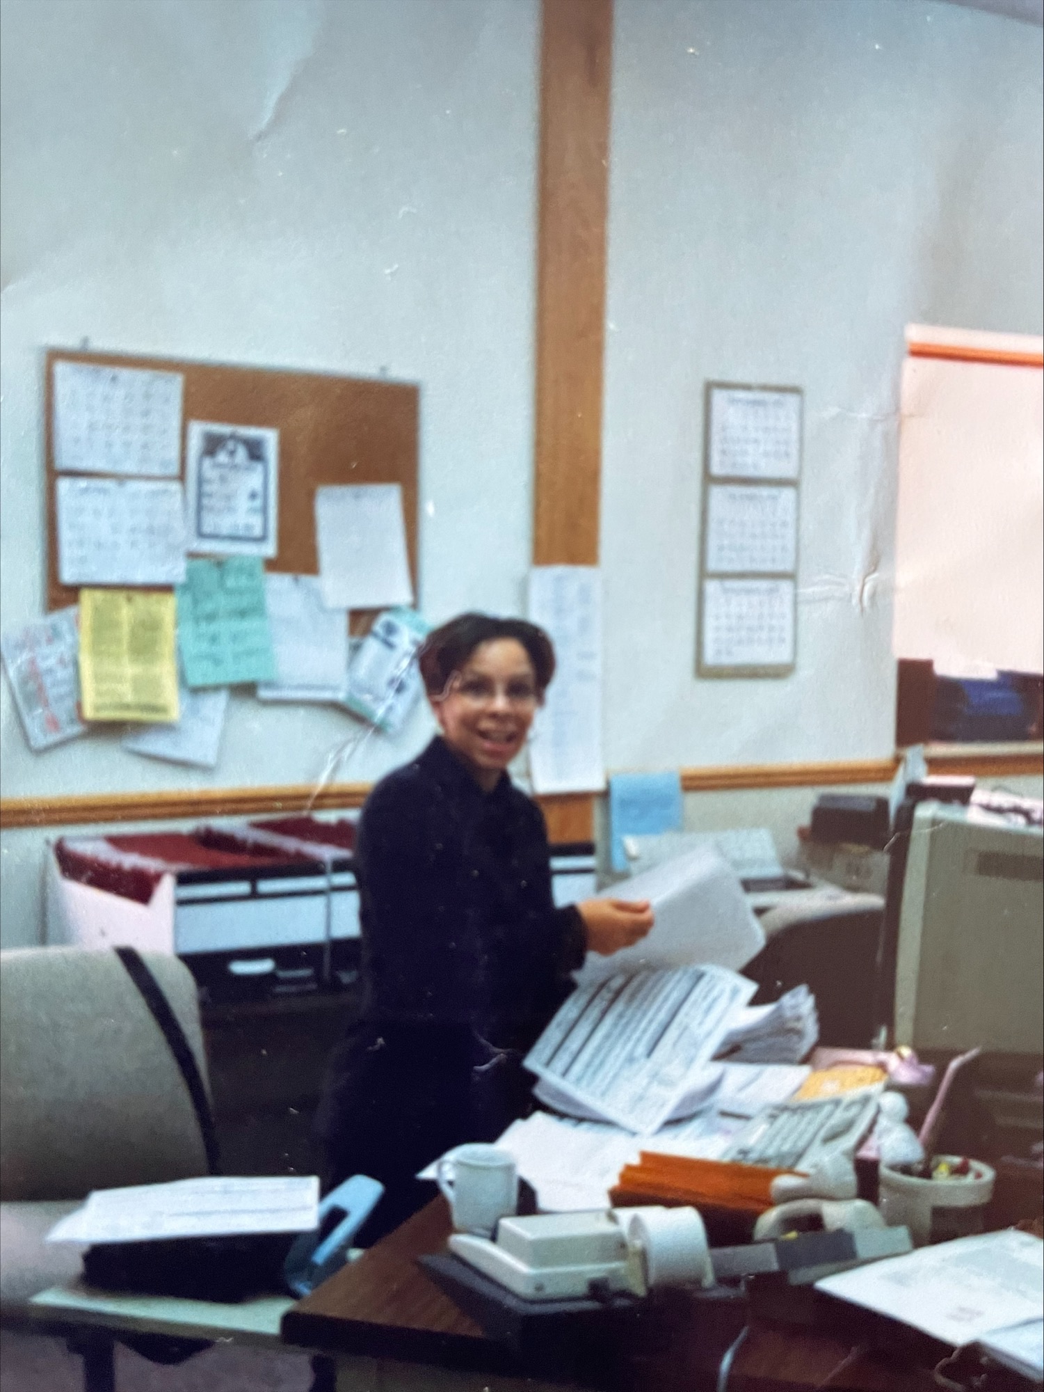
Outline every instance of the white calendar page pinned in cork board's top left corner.
[(58, 473), (178, 476), (180, 372), (56, 362), (53, 381)]

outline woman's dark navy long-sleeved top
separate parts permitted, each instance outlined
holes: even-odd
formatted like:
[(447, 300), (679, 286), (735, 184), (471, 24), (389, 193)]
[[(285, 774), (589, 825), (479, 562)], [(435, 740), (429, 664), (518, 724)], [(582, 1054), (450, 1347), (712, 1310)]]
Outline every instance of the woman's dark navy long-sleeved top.
[(507, 774), (483, 792), (437, 738), (367, 798), (355, 862), (363, 1020), (528, 1048), (585, 954), (579, 912), (551, 898), (537, 805)]

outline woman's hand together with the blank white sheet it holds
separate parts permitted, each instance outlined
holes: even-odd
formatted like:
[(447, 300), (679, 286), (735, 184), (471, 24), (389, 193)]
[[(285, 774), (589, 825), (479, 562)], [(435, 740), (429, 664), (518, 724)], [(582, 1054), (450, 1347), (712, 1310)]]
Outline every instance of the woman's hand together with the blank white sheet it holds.
[[(710, 845), (632, 876), (626, 881), (633, 895), (631, 903), (617, 898), (619, 889), (621, 885), (614, 885), (579, 905), (585, 924), (589, 913), (596, 923), (593, 933), (587, 927), (590, 951), (575, 977), (580, 986), (614, 972), (693, 962), (738, 970), (764, 947), (764, 934), (739, 877)], [(596, 905), (604, 909), (594, 909)], [(635, 933), (639, 924), (643, 931)], [(614, 938), (618, 949), (600, 945)]]

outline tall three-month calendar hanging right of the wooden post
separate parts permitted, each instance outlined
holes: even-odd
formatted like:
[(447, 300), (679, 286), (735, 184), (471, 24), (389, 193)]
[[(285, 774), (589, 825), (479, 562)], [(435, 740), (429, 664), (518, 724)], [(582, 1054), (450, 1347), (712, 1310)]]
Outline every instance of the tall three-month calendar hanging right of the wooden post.
[(707, 383), (696, 670), (785, 677), (798, 650), (798, 387)]

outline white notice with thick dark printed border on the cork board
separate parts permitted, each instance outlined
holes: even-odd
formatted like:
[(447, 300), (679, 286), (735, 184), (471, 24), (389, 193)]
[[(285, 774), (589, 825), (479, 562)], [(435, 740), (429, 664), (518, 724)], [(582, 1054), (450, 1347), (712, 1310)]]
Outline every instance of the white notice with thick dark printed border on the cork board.
[(185, 462), (189, 551), (278, 551), (278, 430), (189, 420)]

